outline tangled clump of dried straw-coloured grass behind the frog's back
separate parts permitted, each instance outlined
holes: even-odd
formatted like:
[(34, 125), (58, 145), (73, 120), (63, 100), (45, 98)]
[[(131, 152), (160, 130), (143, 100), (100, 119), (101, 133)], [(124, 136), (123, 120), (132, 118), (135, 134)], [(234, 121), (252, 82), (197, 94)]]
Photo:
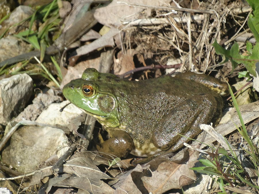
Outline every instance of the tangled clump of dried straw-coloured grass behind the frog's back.
[[(241, 1), (210, 0), (201, 2), (196, 10), (199, 13), (156, 7), (152, 18), (138, 20), (138, 23), (124, 21), (121, 30), (125, 32), (126, 49), (135, 48), (145, 59), (162, 65), (181, 57), (184, 59), (181, 71), (205, 72), (215, 68), (220, 59), (212, 47), (214, 39), (228, 47), (239, 34), (249, 32), (246, 24), (249, 9)], [(224, 75), (230, 71), (228, 64), (222, 68)]]

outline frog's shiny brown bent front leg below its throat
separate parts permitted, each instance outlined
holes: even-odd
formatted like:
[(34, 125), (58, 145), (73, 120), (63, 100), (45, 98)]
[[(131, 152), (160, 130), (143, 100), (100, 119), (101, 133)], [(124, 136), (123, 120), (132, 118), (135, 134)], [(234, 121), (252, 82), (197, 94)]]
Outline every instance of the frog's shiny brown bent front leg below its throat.
[(99, 152), (109, 153), (113, 157), (125, 157), (132, 151), (133, 147), (132, 137), (123, 130), (113, 131), (110, 139), (101, 143), (101, 146), (96, 146)]

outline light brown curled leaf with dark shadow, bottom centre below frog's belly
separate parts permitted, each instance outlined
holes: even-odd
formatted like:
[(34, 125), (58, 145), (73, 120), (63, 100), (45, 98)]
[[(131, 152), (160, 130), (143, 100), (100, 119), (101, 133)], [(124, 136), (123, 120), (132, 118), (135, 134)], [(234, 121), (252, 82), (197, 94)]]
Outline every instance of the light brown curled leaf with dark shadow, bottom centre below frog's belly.
[[(114, 185), (117, 190), (130, 193), (164, 193), (170, 189), (180, 189), (184, 185), (193, 183), (196, 176), (193, 167), (197, 162), (196, 156), (190, 152), (188, 162), (177, 164), (167, 157), (157, 158), (143, 166), (138, 165), (127, 174), (123, 183)], [(123, 176), (120, 177), (120, 180)], [(119, 185), (120, 184), (120, 185)]]

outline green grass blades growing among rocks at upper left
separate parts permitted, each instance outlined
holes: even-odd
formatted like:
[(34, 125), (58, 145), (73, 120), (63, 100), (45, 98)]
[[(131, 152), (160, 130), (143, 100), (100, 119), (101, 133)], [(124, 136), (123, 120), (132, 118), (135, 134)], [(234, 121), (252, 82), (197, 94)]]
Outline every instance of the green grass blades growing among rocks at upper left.
[[(25, 20), (22, 20), (18, 24), (11, 26), (13, 28), (25, 21), (29, 22), (28, 30), (22, 31), (18, 34), (14, 34), (14, 36), (22, 39), (23, 41), (31, 44), (31, 50), (37, 49), (41, 51), (40, 55), (40, 65), (35, 65), (28, 67), (29, 61), (24, 61), (22, 63), (15, 64), (7, 68), (4, 66), (0, 70), (1, 74), (19, 74), (19, 73), (27, 73), (29, 75), (41, 75), (48, 80), (55, 80), (54, 77), (49, 73), (49, 71), (45, 68), (45, 66), (41, 63), (45, 57), (46, 48), (52, 45), (54, 39), (56, 38), (56, 34), (60, 34), (60, 22), (61, 19), (59, 18), (58, 14), (58, 3), (57, 0), (52, 1), (48, 5), (43, 5), (38, 7), (35, 12)], [(32, 30), (33, 24), (35, 21), (41, 22), (41, 26), (37, 30)], [(9, 28), (9, 29), (10, 29)], [(7, 29), (5, 32), (7, 32)], [(52, 36), (50, 35), (52, 32)], [(1, 35), (3, 37), (4, 34)], [(55, 57), (51, 57), (51, 60), (56, 68), (58, 79), (62, 80), (62, 74), (59, 65), (56, 62)], [(17, 67), (16, 67), (17, 66)], [(44, 68), (43, 68), (44, 66)], [(24, 71), (25, 70), (25, 71)], [(51, 75), (51, 76), (50, 76)], [(58, 83), (56, 80), (54, 81), (56, 84)], [(59, 84), (57, 84), (59, 85)]]

